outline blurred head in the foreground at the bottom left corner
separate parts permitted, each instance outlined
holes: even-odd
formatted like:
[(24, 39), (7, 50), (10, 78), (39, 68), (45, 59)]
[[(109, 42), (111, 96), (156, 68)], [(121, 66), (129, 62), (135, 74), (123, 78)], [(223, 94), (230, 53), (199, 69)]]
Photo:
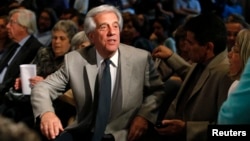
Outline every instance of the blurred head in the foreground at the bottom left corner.
[(0, 116), (1, 141), (41, 141), (38, 134), (24, 123), (16, 123), (11, 119)]

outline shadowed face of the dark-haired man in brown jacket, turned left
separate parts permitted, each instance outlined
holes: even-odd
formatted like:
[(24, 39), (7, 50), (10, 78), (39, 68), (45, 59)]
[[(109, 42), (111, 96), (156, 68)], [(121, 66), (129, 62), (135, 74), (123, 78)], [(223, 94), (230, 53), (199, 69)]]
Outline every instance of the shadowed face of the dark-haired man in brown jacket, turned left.
[(190, 31), (187, 31), (186, 47), (188, 49), (188, 56), (192, 62), (203, 63), (207, 61), (206, 46), (199, 45), (194, 38), (194, 34)]

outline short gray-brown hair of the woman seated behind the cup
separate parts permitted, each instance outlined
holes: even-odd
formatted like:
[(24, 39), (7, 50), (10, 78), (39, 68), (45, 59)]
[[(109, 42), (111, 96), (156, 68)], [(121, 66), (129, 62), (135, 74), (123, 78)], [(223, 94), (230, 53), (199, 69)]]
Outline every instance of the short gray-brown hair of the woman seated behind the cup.
[(54, 31), (63, 31), (71, 41), (73, 36), (78, 32), (78, 27), (72, 20), (59, 20), (52, 28), (52, 32)]

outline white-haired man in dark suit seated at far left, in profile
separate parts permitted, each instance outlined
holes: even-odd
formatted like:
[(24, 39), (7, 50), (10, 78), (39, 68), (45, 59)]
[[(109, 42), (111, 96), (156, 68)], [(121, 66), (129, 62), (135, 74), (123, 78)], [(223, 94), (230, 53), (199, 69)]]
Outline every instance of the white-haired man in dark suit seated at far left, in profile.
[(29, 116), (33, 114), (30, 112), (32, 110), (29, 97), (26, 96), (25, 101), (11, 101), (5, 94), (19, 77), (19, 65), (31, 63), (39, 48), (42, 47), (42, 44), (32, 35), (37, 30), (35, 14), (27, 9), (12, 10), (7, 30), (14, 43), (6, 48), (0, 60), (0, 112), (15, 121), (24, 121), (32, 127), (34, 120), (33, 116)]

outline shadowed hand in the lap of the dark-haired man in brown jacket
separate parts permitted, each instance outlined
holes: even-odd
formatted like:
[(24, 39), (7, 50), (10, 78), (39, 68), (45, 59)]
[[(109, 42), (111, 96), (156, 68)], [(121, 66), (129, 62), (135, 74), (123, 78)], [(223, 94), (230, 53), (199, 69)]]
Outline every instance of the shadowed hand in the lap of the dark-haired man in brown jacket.
[(185, 131), (186, 123), (182, 120), (174, 119), (174, 120), (163, 120), (162, 125), (163, 128), (156, 128), (155, 130), (160, 135), (178, 135)]

